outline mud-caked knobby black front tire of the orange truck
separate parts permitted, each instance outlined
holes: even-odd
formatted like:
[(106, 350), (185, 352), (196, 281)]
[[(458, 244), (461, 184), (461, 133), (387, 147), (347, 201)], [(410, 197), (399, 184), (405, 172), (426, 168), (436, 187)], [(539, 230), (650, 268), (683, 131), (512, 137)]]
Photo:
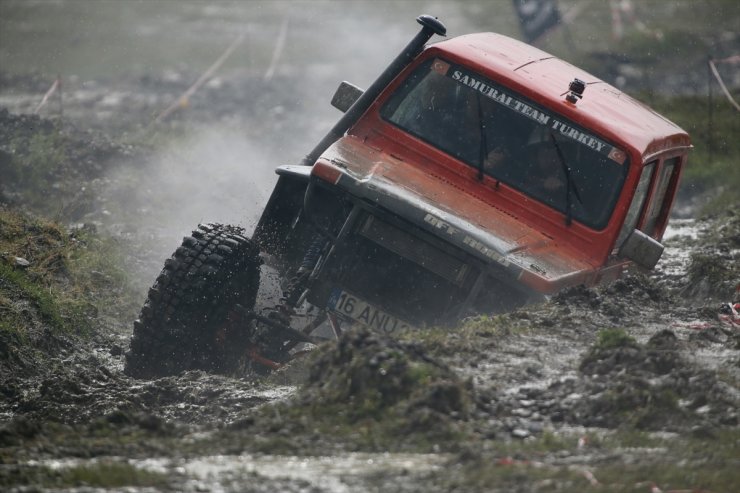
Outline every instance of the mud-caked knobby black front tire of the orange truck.
[(236, 369), (242, 341), (226, 322), (236, 304), (253, 308), (260, 263), (258, 247), (241, 228), (199, 225), (149, 290), (134, 322), (125, 372), (152, 378)]

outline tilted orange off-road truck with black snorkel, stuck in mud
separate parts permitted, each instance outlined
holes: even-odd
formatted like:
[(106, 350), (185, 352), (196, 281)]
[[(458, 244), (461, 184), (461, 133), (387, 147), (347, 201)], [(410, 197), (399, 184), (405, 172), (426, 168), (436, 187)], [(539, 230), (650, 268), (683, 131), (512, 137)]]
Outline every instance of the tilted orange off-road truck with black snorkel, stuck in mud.
[(537, 48), (427, 45), (445, 28), (417, 21), (366, 91), (340, 85), (343, 116), (277, 168), (251, 237), (183, 240), (134, 324), (131, 375), (275, 369), (322, 331), (452, 326), (655, 266), (686, 132)]

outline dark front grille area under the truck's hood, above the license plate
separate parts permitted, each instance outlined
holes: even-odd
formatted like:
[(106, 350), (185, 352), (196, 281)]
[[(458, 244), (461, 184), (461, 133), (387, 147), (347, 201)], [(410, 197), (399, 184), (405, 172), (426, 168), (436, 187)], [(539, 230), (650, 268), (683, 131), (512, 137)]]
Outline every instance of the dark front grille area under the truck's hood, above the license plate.
[(444, 324), (478, 278), (469, 259), (411, 224), (364, 213), (327, 258), (309, 301), (323, 305), (340, 288), (414, 325)]

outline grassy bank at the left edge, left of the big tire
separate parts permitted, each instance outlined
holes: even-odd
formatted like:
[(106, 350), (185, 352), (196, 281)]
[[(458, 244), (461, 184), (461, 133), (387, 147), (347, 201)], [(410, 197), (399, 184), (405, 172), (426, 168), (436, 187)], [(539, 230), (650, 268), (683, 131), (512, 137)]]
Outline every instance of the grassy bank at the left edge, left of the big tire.
[[(101, 312), (134, 310), (112, 239), (0, 208), (0, 328), (89, 334)], [(17, 258), (29, 262), (18, 265)]]

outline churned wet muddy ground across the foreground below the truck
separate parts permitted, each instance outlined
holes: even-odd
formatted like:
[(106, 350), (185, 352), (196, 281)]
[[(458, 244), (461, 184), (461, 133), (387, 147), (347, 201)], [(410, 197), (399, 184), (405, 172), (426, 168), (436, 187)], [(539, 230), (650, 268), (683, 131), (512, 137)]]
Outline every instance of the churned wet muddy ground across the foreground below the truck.
[[(716, 437), (738, 425), (740, 337), (717, 318), (719, 300), (680, 296), (687, 265), (671, 252), (687, 243), (701, 240), (669, 240), (649, 277), (573, 289), (493, 325), (469, 323), (442, 346), (423, 335), (399, 344), (349, 334), (267, 379), (187, 372), (133, 380), (122, 371), (130, 327), (100, 326), (87, 343), (51, 344), (58, 357), (44, 368), (6, 375), (4, 388), (15, 390), (2, 401), (0, 477), (12, 490), (54, 484), (59, 471), (125, 464), (164, 475), (158, 488), (172, 491), (428, 491), (456, 481), (471, 491), (469, 472), (446, 471), (504, 460), (496, 450), (512, 443), (619, 430)], [(599, 332), (614, 327), (632, 339), (599, 347)], [(437, 368), (422, 388), (407, 379), (420, 364)], [(348, 390), (346, 381), (363, 386)], [(359, 404), (377, 392), (390, 400), (372, 410), (383, 419), (368, 421)], [(330, 414), (339, 409), (347, 415)], [(367, 426), (370, 441), (352, 431)], [(537, 453), (538, 467), (588, 471), (652, 450), (572, 445)], [(527, 453), (516, 457), (506, 467), (529, 467), (517, 465), (532, 460)], [(532, 488), (528, 476), (517, 483)]]

